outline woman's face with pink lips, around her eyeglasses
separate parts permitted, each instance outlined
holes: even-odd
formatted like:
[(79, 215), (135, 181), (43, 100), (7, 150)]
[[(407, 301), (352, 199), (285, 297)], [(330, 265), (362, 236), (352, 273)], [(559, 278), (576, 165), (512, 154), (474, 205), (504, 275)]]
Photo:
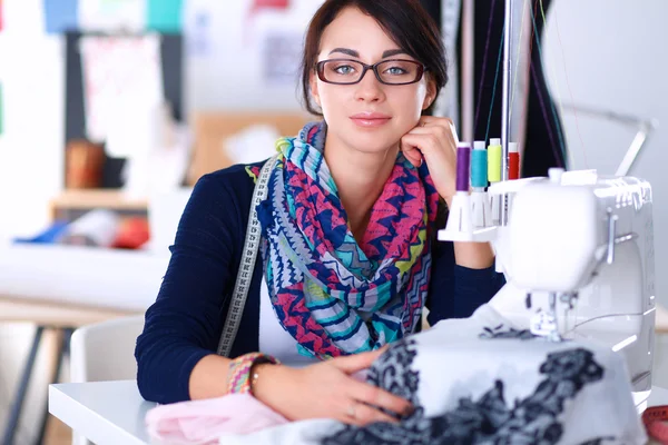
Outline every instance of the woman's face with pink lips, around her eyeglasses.
[[(317, 61), (350, 59), (374, 65), (384, 59), (414, 60), (380, 24), (356, 8), (344, 9), (327, 26)], [(343, 68), (347, 70), (347, 68)], [(423, 76), (410, 85), (383, 85), (372, 70), (354, 85), (333, 85), (313, 73), (311, 91), (327, 122), (327, 138), (364, 152), (394, 148), (418, 123), (434, 99), (433, 82)]]

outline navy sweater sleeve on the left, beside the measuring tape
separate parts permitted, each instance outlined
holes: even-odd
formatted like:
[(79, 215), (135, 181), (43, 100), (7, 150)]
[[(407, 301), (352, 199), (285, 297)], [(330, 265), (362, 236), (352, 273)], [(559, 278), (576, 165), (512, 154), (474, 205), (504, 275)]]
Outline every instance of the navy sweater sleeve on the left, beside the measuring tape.
[[(217, 175), (217, 176), (216, 176)], [(196, 184), (170, 247), (156, 301), (137, 338), (137, 385), (151, 402), (187, 400), (193, 368), (214, 354), (220, 310), (238, 268), (237, 204), (219, 174)]]

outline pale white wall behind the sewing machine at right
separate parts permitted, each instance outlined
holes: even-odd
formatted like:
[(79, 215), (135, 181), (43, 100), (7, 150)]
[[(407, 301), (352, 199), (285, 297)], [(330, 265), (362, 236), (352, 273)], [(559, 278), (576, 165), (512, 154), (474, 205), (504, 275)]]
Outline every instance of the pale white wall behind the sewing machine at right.
[[(543, 58), (559, 100), (659, 120), (630, 175), (652, 185), (657, 298), (668, 306), (667, 17), (665, 0), (557, 0)], [(582, 113), (562, 116), (572, 167), (615, 174), (636, 129)]]

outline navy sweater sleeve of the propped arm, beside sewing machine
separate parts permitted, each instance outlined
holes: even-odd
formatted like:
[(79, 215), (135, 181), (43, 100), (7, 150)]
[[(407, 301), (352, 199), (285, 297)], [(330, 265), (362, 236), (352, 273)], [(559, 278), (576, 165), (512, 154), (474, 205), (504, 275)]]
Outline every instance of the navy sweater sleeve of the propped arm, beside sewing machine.
[(494, 266), (485, 269), (459, 266), (454, 260), (454, 245), (438, 243), (432, 249), (426, 319), (433, 326), (445, 318), (470, 317), (504, 284), (503, 274), (498, 274)]

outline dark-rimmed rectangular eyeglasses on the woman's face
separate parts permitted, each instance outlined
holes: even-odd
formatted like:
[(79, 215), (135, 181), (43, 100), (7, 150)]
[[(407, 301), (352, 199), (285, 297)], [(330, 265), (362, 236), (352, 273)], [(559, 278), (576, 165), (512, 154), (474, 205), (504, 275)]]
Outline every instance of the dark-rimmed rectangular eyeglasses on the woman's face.
[(353, 85), (360, 82), (370, 69), (384, 85), (409, 85), (422, 79), (425, 67), (414, 60), (392, 59), (374, 65), (357, 60), (330, 59), (315, 65), (317, 77), (327, 83)]

